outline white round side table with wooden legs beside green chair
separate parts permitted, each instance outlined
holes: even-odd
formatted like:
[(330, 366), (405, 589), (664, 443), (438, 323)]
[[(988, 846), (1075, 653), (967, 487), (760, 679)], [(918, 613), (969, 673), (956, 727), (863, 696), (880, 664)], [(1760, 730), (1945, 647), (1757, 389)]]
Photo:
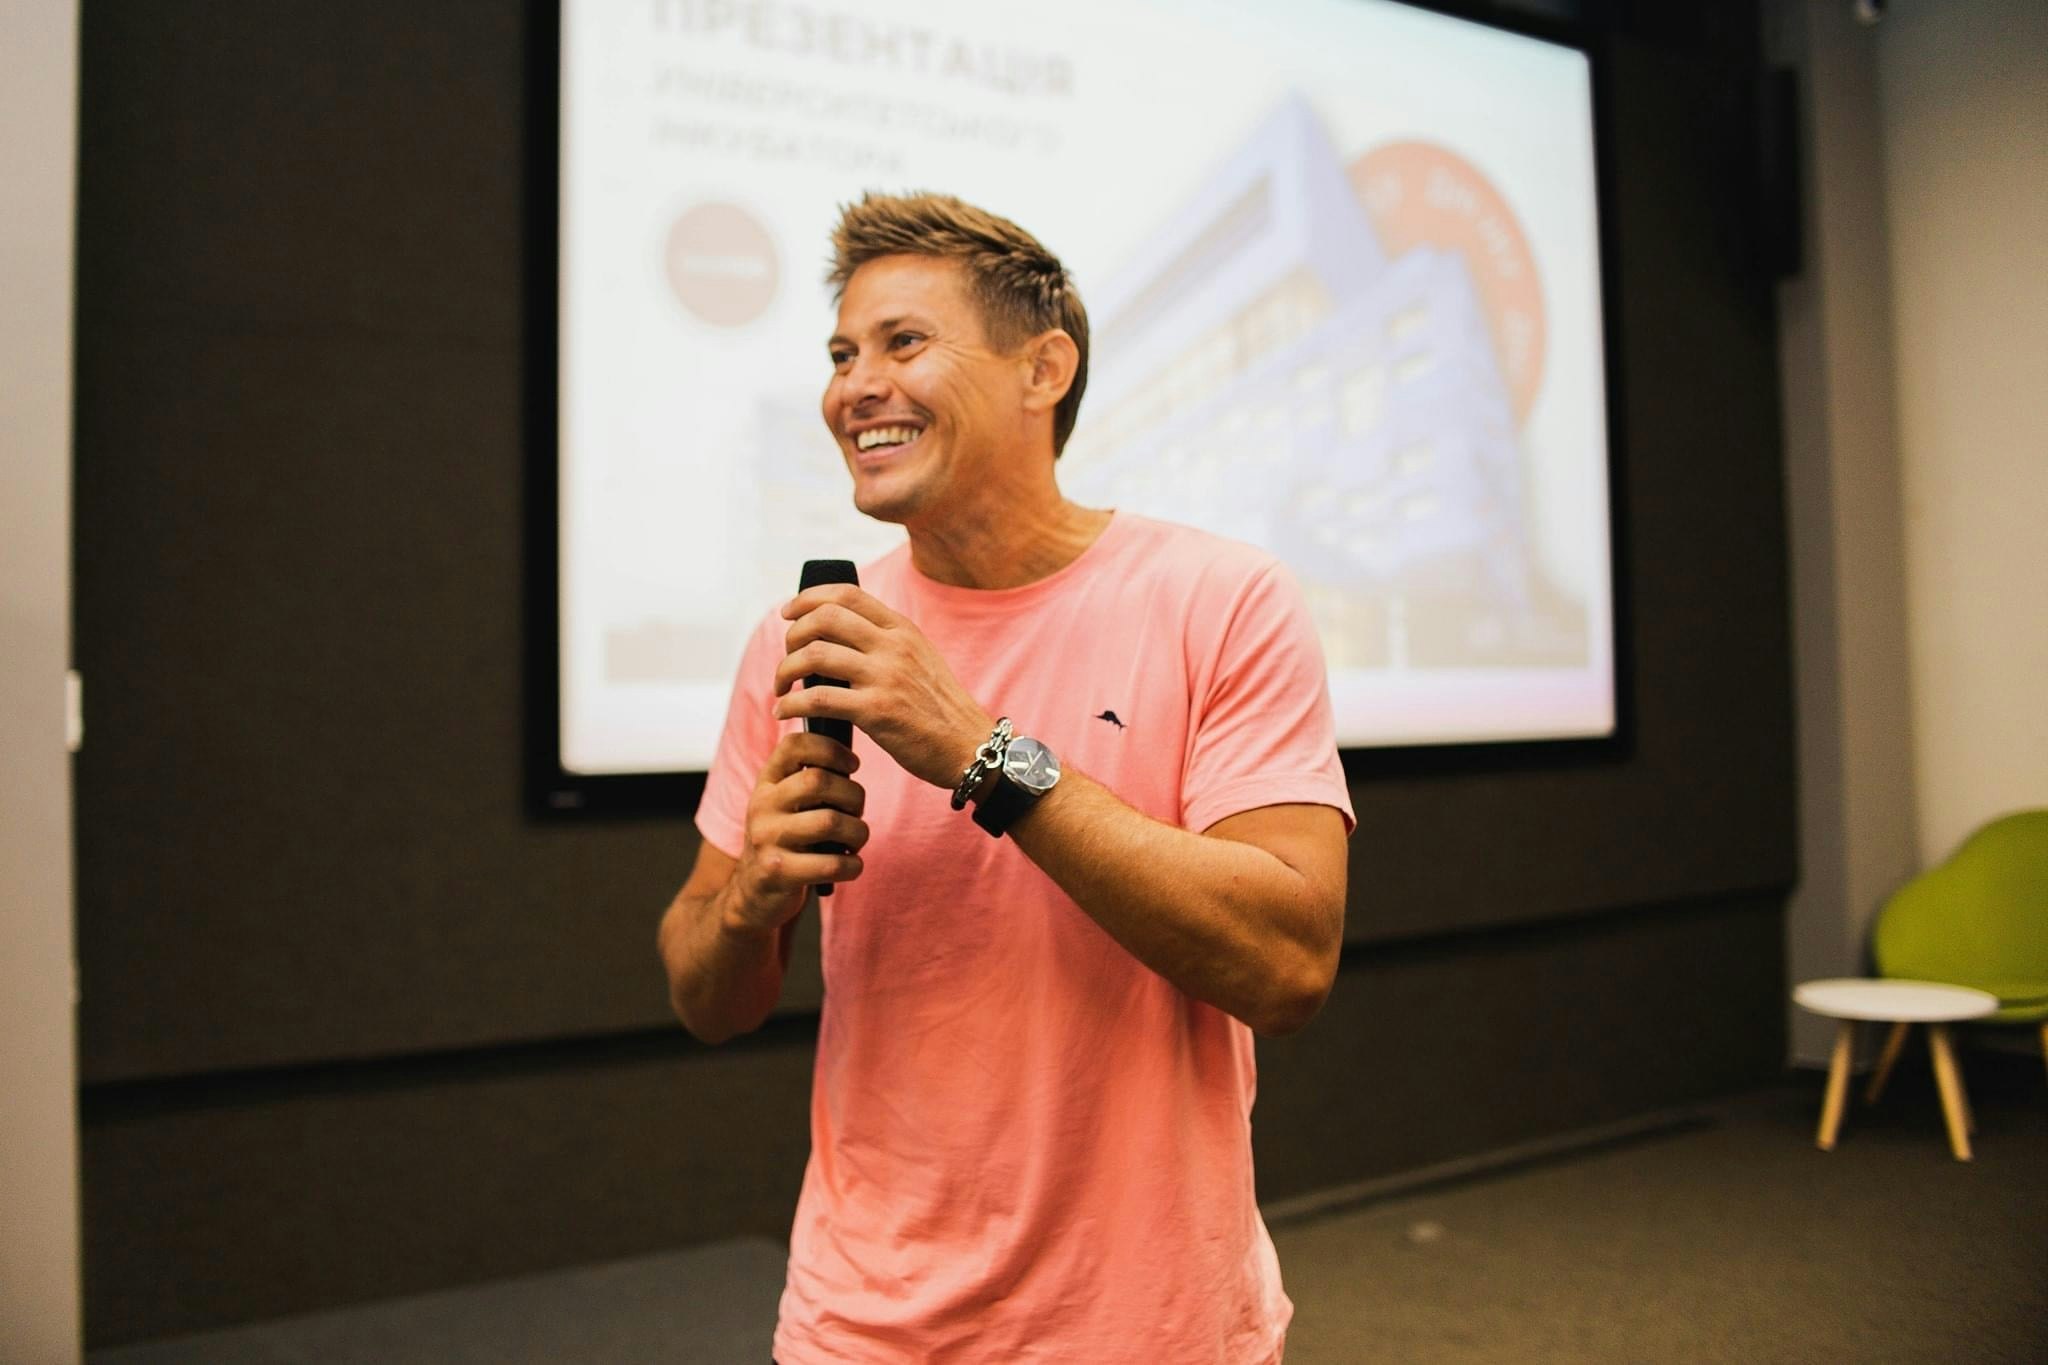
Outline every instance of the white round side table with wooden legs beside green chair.
[(1927, 1046), (1933, 1052), (1933, 1078), (1942, 1089), (1942, 1117), (1948, 1121), (1948, 1146), (1956, 1160), (1970, 1160), (1970, 1101), (1962, 1093), (1962, 1070), (1956, 1066), (1956, 1050), (1950, 1046), (1948, 1025), (1960, 1019), (1982, 1019), (1999, 1009), (1999, 997), (1970, 986), (1948, 986), (1933, 980), (1878, 980), (1870, 976), (1847, 976), (1837, 980), (1808, 980), (1792, 988), (1794, 1003), (1817, 1015), (1839, 1019), (1835, 1029), (1835, 1058), (1827, 1068), (1827, 1101), (1821, 1105), (1823, 1152), (1835, 1150), (1835, 1134), (1841, 1132), (1841, 1107), (1849, 1091), (1849, 1056), (1855, 1050), (1855, 1023), (1872, 1019), (1890, 1023), (1890, 1038), (1884, 1040), (1884, 1054), (1878, 1058), (1878, 1072), (1870, 1078), (1864, 1103), (1876, 1103), (1884, 1093), (1884, 1081), (1892, 1074), (1898, 1048), (1907, 1040), (1907, 1029), (1915, 1023), (1927, 1025)]

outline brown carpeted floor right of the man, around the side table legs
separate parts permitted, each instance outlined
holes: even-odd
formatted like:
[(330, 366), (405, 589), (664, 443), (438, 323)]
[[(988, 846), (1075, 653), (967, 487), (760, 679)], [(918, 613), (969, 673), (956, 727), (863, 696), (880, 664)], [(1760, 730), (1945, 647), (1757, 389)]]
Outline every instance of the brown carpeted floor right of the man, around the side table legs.
[(1974, 1160), (1925, 1058), (1833, 1152), (1821, 1078), (1706, 1126), (1276, 1230), (1288, 1365), (2048, 1361), (2048, 1076), (1972, 1062)]

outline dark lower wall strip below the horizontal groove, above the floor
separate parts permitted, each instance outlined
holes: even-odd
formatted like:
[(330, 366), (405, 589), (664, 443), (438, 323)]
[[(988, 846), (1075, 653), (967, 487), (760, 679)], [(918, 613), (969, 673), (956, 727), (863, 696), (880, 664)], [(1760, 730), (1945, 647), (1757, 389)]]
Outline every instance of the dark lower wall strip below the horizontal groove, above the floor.
[[(1761, 894), (1352, 950), (1323, 1015), (1260, 1046), (1260, 1197), (1755, 1085), (1784, 1056), (1780, 937)], [(94, 1087), (90, 1334), (780, 1238), (815, 1038), (784, 1019), (725, 1048), (645, 1036)]]

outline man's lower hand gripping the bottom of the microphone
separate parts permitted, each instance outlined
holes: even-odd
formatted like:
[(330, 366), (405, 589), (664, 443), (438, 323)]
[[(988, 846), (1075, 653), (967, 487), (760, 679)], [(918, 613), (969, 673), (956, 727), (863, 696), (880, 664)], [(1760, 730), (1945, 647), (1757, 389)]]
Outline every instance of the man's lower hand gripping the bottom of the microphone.
[[(811, 886), (860, 876), (868, 794), (850, 776), (856, 767), (854, 751), (823, 735), (784, 735), (776, 743), (748, 800), (725, 927), (772, 933), (797, 917)], [(819, 843), (850, 851), (817, 853)]]

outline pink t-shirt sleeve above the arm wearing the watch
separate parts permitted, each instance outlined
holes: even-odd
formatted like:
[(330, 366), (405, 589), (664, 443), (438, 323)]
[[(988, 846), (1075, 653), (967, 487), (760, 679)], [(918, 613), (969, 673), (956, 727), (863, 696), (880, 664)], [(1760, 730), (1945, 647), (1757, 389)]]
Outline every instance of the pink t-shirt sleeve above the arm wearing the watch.
[(1346, 833), (1356, 827), (1323, 645), (1284, 565), (1262, 567), (1229, 604), (1198, 684), (1182, 780), (1188, 829), (1284, 804), (1333, 806)]

